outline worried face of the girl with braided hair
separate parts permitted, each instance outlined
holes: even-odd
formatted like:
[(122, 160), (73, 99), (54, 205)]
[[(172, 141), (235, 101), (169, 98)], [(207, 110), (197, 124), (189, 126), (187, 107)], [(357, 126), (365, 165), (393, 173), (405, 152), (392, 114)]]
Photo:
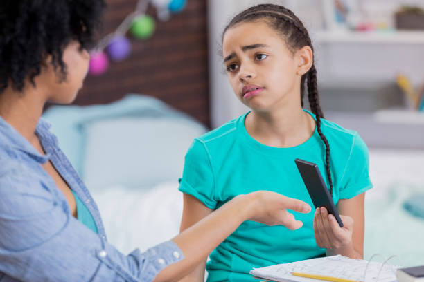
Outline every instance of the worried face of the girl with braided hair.
[[(238, 99), (254, 111), (300, 106), (300, 56), (264, 21), (239, 23), (222, 40), (224, 66)], [(303, 74), (303, 73), (302, 73)]]

